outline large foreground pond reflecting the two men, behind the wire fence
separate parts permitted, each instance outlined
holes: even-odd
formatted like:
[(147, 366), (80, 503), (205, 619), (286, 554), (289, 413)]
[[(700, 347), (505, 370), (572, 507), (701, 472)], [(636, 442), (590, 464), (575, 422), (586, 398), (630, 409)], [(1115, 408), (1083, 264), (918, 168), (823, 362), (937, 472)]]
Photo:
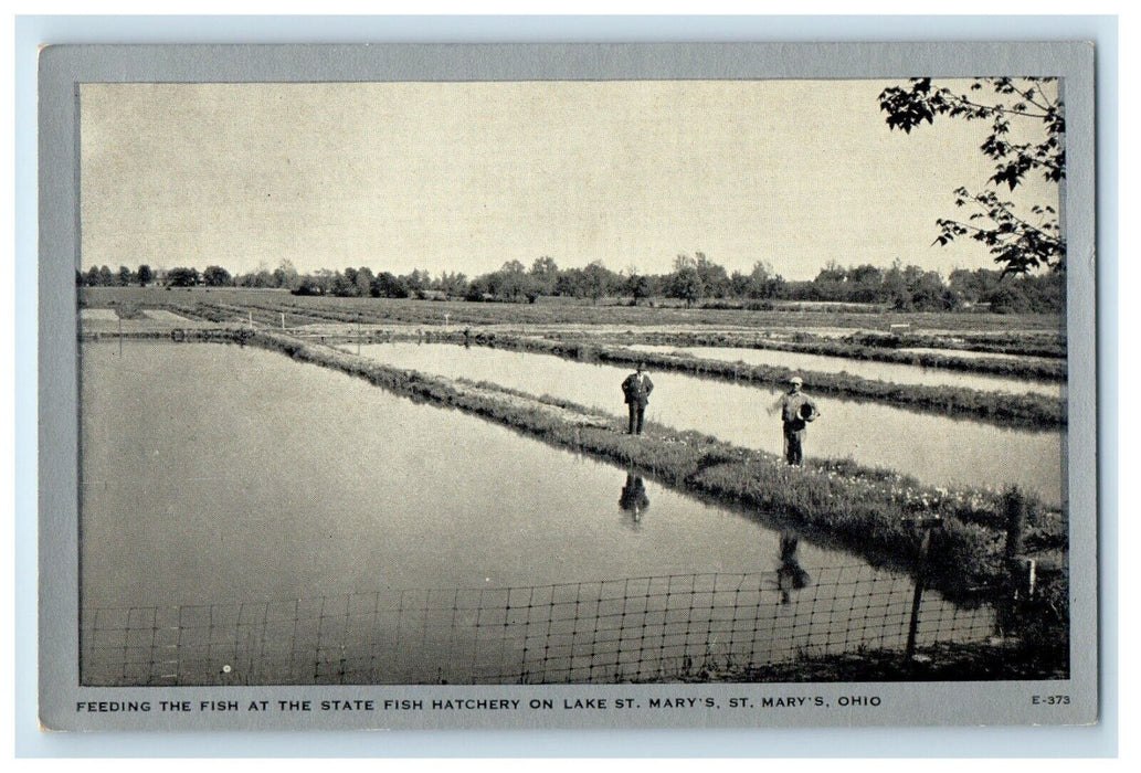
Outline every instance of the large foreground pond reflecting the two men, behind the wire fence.
[[(116, 351), (82, 345), (86, 683), (606, 681), (901, 646), (906, 576), (803, 538), (782, 599), (778, 531), (633, 471), (258, 349)], [(928, 638), (989, 629), (924, 604)]]

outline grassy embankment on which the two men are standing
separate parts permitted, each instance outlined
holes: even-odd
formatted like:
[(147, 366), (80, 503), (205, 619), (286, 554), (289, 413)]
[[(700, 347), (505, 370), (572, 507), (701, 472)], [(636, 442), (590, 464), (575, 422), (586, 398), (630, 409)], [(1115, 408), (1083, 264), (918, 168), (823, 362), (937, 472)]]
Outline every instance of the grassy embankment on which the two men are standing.
[[(243, 332), (244, 342), (296, 360), (358, 376), (397, 394), (459, 408), (560, 447), (652, 474), (665, 485), (743, 507), (774, 513), (807, 532), (843, 545), (869, 560), (909, 565), (920, 539), (911, 520), (939, 515), (931, 543), (929, 583), (952, 596), (1005, 581), (1004, 505), (986, 490), (937, 489), (885, 470), (850, 461), (811, 461), (788, 467), (776, 456), (737, 448), (695, 432), (652, 425), (631, 438), (614, 417), (566, 401), (540, 399), (414, 371), (403, 371), (275, 332)], [(1041, 503), (1029, 507), (1028, 550), (1065, 550), (1060, 513)]]

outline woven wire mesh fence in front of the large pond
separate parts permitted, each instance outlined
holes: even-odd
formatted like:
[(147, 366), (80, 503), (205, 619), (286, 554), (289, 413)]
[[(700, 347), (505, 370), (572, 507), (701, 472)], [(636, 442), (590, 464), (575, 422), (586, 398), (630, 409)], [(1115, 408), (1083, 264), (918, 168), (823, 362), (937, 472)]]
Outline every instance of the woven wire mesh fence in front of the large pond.
[(86, 609), (80, 673), (84, 685), (618, 683), (979, 642), (995, 626), (990, 605), (916, 593), (903, 575), (796, 567)]

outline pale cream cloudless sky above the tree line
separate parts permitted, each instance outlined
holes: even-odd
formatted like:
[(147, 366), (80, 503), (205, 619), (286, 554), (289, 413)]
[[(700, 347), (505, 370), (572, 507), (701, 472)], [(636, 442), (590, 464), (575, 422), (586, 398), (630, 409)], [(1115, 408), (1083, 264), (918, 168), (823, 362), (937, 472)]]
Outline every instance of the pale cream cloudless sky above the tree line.
[[(994, 268), (974, 242), (932, 245), (954, 188), (993, 173), (988, 124), (889, 130), (876, 97), (897, 83), (83, 84), (81, 263)], [(1015, 200), (1058, 206), (1029, 182)]]

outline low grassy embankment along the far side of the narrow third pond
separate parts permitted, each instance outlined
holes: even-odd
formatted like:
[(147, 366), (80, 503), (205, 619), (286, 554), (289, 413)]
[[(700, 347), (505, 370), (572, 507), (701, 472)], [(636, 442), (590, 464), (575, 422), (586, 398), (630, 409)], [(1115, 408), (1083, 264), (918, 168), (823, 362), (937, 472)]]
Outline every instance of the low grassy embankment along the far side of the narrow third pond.
[[(584, 341), (582, 334), (553, 333), (547, 337), (558, 341)], [(984, 373), (1011, 379), (1035, 379), (1038, 381), (1062, 381), (1066, 379), (1066, 361), (1027, 360), (1011, 356), (1006, 359), (986, 357), (957, 357), (954, 350), (942, 352), (899, 351), (887, 345), (865, 345), (853, 337), (824, 339), (804, 333), (787, 334), (786, 337), (771, 337), (755, 333), (670, 333), (633, 331), (629, 334), (608, 334), (599, 336), (609, 343), (654, 344), (670, 347), (725, 347), (734, 349), (769, 349), (772, 351), (790, 351), (803, 355), (820, 355), (824, 357), (842, 357), (853, 360), (871, 360), (913, 365), (925, 368), (939, 368), (963, 373)], [(930, 347), (924, 347), (930, 348)]]

